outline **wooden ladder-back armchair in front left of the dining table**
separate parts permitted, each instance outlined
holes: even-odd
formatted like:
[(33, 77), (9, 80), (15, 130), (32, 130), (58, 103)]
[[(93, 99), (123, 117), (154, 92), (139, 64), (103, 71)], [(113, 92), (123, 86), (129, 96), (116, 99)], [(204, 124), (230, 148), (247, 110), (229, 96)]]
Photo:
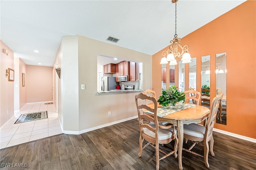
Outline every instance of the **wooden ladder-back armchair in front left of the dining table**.
[[(154, 107), (150, 108), (145, 104), (145, 100), (148, 100), (152, 103), (154, 103)], [(143, 93), (140, 93), (135, 96), (137, 111), (138, 111), (138, 121), (140, 125), (140, 139), (139, 139), (139, 154), (140, 157), (142, 154), (142, 150), (146, 148), (147, 146), (152, 146), (156, 150), (156, 170), (159, 169), (159, 160), (162, 160), (166, 158), (167, 156), (170, 156), (174, 154), (175, 158), (177, 157), (177, 148), (178, 148), (178, 139), (177, 139), (177, 131), (175, 129), (175, 125), (168, 125), (168, 126), (161, 126), (158, 122), (157, 117), (157, 102), (154, 97), (150, 97), (148, 95), (145, 95)], [(154, 115), (147, 115), (146, 111), (150, 111), (151, 113), (154, 113)], [(150, 113), (148, 113), (150, 114)], [(150, 123), (144, 123), (147, 122), (147, 120), (150, 121)], [(143, 145), (144, 139), (147, 141), (147, 144)], [(171, 152), (164, 151), (164, 146), (161, 146), (160, 144), (168, 144), (172, 140), (175, 141), (174, 143), (174, 150)], [(168, 149), (169, 150), (169, 149)], [(170, 150), (169, 150), (170, 151)], [(159, 152), (161, 152), (161, 157)]]

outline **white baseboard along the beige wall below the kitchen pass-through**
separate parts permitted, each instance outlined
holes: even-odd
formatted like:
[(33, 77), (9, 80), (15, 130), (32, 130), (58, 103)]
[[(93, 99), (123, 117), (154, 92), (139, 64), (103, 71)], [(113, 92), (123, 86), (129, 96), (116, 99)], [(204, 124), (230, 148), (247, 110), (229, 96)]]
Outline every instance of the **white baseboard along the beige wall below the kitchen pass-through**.
[(97, 127), (92, 127), (92, 128), (88, 128), (88, 129), (84, 129), (84, 130), (80, 130), (80, 131), (62, 130), (62, 132), (65, 133), (65, 134), (82, 134), (82, 133), (90, 132), (92, 130), (96, 130), (96, 129), (99, 129), (99, 128), (104, 128), (104, 127), (108, 127), (110, 125), (115, 125), (117, 123), (129, 121), (129, 120), (135, 119), (137, 117), (138, 116), (129, 117), (127, 119), (122, 119), (120, 121), (115, 121), (115, 122), (107, 123), (107, 124), (104, 124), (104, 125), (100, 125), (100, 126), (97, 126)]

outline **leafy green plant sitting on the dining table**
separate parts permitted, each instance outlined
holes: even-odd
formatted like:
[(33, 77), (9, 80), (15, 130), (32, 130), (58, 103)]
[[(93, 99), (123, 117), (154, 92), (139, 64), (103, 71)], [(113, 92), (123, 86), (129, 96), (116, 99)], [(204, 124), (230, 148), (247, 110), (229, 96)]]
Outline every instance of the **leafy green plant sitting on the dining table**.
[(185, 93), (179, 92), (178, 87), (172, 85), (166, 90), (162, 91), (162, 95), (159, 97), (158, 102), (160, 105), (166, 107), (169, 104), (175, 107), (175, 104), (180, 101), (185, 101)]

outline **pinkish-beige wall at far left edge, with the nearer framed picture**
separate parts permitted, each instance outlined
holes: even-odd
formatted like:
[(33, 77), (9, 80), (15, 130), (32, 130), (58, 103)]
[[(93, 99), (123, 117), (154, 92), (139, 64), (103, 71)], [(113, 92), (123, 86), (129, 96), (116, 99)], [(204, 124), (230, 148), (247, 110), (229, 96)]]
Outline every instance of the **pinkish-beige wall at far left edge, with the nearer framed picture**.
[(14, 69), (14, 53), (0, 40), (0, 127), (14, 115), (14, 81), (8, 81), (5, 75), (8, 68)]

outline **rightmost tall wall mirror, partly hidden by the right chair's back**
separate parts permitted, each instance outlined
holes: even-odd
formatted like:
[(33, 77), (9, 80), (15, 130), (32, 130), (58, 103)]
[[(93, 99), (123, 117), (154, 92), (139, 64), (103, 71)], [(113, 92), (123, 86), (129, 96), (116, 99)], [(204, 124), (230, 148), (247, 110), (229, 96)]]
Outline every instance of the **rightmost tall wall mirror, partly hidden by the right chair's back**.
[(227, 100), (226, 100), (226, 53), (216, 54), (216, 95), (223, 93), (223, 97), (220, 103), (219, 113), (216, 118), (216, 123), (227, 125)]

